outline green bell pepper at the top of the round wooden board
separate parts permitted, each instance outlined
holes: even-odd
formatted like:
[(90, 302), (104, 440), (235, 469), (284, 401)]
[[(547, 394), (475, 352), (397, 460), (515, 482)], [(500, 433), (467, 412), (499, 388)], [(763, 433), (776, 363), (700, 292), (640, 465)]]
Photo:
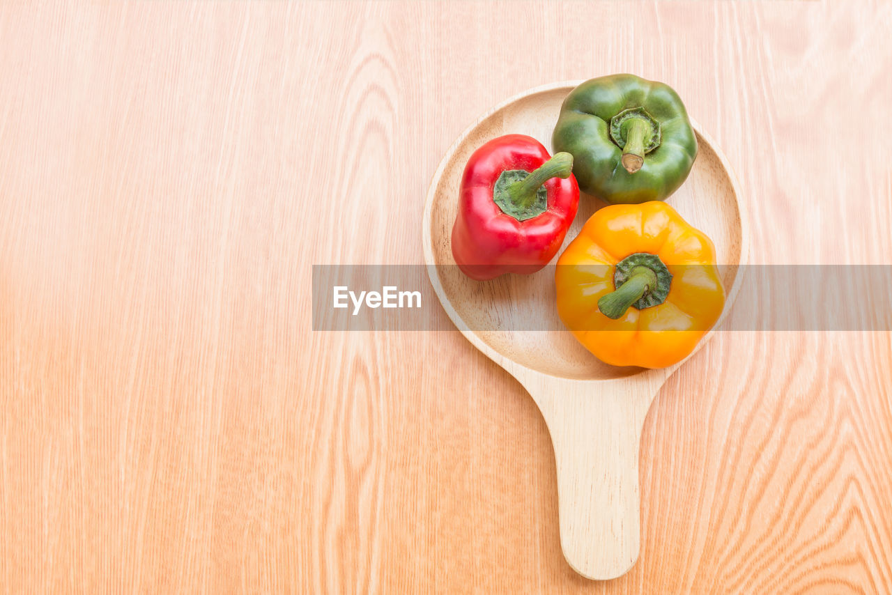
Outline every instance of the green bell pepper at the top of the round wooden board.
[(697, 136), (678, 94), (631, 74), (574, 88), (551, 141), (555, 151), (573, 154), (582, 192), (611, 204), (665, 200), (697, 157)]

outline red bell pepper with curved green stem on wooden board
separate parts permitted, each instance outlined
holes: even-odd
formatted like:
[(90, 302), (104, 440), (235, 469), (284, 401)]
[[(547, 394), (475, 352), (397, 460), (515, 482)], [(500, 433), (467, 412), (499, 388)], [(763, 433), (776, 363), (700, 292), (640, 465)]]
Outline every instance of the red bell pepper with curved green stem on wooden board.
[(468, 277), (530, 274), (554, 258), (579, 207), (573, 156), (549, 156), (531, 136), (507, 135), (467, 161), (452, 255)]

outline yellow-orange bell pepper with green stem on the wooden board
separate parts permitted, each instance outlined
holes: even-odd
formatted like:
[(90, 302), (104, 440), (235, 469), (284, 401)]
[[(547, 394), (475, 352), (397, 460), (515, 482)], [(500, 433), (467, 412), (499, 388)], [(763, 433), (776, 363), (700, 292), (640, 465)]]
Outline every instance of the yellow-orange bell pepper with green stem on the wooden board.
[(558, 315), (614, 366), (672, 366), (724, 308), (713, 243), (665, 202), (596, 211), (556, 269)]

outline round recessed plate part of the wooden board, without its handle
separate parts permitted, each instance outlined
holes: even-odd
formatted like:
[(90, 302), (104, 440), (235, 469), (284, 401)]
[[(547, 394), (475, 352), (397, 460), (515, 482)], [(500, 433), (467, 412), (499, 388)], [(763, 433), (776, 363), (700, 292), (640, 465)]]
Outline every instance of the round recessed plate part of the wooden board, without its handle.
[[(551, 131), (560, 105), (579, 82), (555, 83), (516, 95), (467, 128), (434, 173), (425, 205), (423, 236), (425, 260), (440, 301), (456, 326), (481, 351), (500, 364), (507, 358), (550, 376), (595, 380), (627, 376), (639, 370), (601, 363), (565, 331), (523, 330), (562, 328), (554, 307), (554, 278), (547, 272), (504, 275), (479, 282), (465, 277), (455, 266), (430, 266), (455, 265), (450, 235), (462, 171), (471, 153), (491, 138), (511, 133), (533, 136), (550, 151)], [(728, 265), (722, 268), (723, 284), (729, 294), (727, 311), (740, 281), (735, 265), (746, 261), (746, 225), (738, 206), (738, 184), (728, 162), (696, 122), (693, 126), (699, 145), (697, 161), (688, 179), (667, 202), (713, 239), (719, 264)], [(604, 205), (582, 194), (579, 212), (558, 254), (591, 214)]]

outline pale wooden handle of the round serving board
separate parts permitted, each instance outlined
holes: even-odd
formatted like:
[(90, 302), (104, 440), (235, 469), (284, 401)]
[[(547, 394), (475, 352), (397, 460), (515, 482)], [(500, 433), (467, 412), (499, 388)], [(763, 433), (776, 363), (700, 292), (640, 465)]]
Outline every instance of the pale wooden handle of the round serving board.
[(524, 385), (555, 451), (564, 557), (587, 578), (625, 574), (640, 549), (638, 451), (659, 384), (646, 374), (598, 383), (536, 376)]

